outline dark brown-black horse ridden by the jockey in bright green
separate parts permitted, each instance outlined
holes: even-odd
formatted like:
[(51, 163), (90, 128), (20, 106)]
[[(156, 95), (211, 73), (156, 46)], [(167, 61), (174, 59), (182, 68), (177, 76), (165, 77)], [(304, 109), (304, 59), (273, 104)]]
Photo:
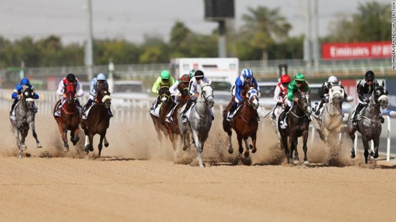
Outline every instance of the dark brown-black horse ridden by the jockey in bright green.
[[(293, 107), (290, 108), (290, 113), (288, 114), (286, 129), (282, 129), (280, 126), (280, 121), (283, 118), (279, 118), (278, 130), (282, 138), (282, 146), (285, 148), (286, 158), (288, 158), (288, 163), (290, 159), (293, 158), (293, 150), (295, 150), (294, 163), (299, 163), (297, 143), (298, 137), (302, 136), (302, 149), (304, 150), (304, 164), (309, 164), (308, 158), (306, 157), (306, 142), (308, 139), (308, 128), (309, 128), (309, 115), (311, 115), (311, 101), (309, 98), (309, 92), (297, 92), (298, 102), (294, 103)], [(284, 114), (282, 115), (284, 116)], [(289, 138), (289, 142), (288, 142)]]

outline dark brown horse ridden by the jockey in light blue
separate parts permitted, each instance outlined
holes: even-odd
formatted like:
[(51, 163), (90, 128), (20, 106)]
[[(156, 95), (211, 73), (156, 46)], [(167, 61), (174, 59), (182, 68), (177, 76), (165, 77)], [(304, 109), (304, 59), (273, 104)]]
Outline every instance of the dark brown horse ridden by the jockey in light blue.
[(94, 151), (93, 140), (96, 134), (100, 135), (99, 140), (99, 158), (102, 150), (102, 143), (104, 139), (104, 147), (108, 147), (106, 140), (107, 128), (110, 124), (110, 115), (108, 109), (111, 105), (110, 92), (108, 86), (103, 83), (98, 85), (98, 94), (95, 98), (95, 104), (91, 107), (91, 111), (88, 113), (87, 119), (81, 120), (81, 127), (85, 134), (85, 154), (89, 151)]

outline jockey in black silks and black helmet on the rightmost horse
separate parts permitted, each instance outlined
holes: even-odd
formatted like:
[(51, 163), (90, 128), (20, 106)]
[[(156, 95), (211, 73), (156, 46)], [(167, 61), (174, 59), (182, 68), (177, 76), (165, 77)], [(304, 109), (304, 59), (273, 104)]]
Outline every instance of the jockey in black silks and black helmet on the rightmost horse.
[[(356, 107), (355, 113), (352, 117), (351, 124), (356, 126), (357, 121), (356, 117), (360, 113), (360, 111), (363, 109), (363, 107), (367, 106), (370, 102), (371, 95), (373, 94), (373, 91), (375, 88), (379, 86), (377, 80), (375, 80), (374, 72), (373, 71), (367, 71), (367, 73), (364, 76), (364, 79), (360, 80), (358, 85), (357, 85), (357, 92), (358, 92), (358, 98), (359, 98), (359, 104)], [(385, 119), (384, 117), (381, 116), (381, 123), (384, 123)]]

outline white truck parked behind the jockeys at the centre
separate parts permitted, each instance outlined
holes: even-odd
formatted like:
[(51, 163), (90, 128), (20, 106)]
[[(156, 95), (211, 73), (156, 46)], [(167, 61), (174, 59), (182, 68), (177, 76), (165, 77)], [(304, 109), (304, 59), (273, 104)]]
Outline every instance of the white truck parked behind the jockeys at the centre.
[(171, 59), (171, 74), (176, 78), (191, 70), (201, 70), (212, 81), (216, 101), (229, 101), (230, 88), (239, 73), (238, 58), (177, 58)]

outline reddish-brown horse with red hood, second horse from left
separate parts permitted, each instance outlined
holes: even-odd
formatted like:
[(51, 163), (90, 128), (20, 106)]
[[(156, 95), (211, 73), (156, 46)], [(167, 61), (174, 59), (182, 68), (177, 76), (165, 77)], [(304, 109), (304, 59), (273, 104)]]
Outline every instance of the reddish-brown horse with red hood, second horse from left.
[(59, 100), (54, 107), (54, 118), (58, 124), (59, 132), (62, 135), (64, 143), (63, 151), (69, 151), (69, 144), (67, 143), (67, 131), (70, 130), (70, 141), (76, 146), (80, 140), (79, 125), (80, 125), (80, 111), (75, 100), (76, 88), (74, 85), (67, 85), (64, 90), (66, 102), (61, 108), (61, 116), (55, 116), (56, 108), (61, 100)]

